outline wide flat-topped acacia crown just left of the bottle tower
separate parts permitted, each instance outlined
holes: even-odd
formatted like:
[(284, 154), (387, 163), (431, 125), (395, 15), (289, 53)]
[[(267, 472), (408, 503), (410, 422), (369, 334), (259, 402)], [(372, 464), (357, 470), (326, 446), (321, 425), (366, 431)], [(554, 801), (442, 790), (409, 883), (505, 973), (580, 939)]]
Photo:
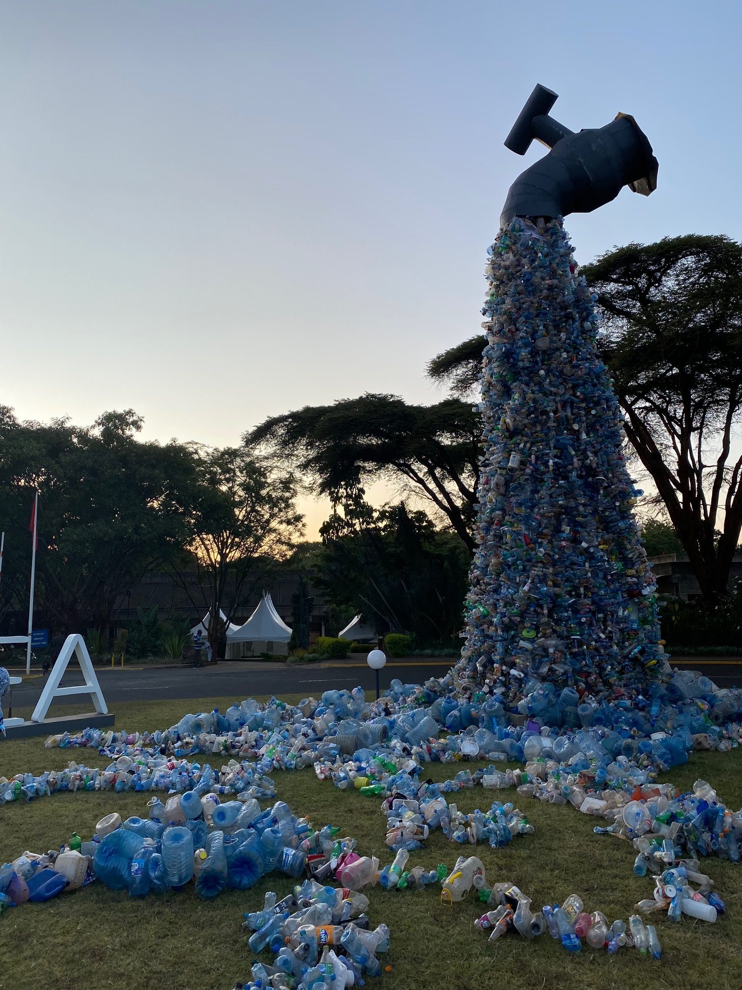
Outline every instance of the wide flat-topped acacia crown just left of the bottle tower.
[(417, 406), (367, 393), (272, 417), (243, 441), (273, 463), (299, 469), (333, 507), (353, 501), (374, 479), (402, 482), (472, 549), (479, 439), (468, 403), (453, 398)]

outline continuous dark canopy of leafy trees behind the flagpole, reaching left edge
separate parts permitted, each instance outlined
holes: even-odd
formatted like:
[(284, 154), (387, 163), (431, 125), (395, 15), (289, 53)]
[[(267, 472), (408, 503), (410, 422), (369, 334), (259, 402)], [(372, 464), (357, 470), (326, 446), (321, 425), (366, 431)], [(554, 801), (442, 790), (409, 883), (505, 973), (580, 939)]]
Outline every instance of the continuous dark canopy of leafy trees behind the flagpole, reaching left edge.
[(242, 448), (143, 442), (141, 423), (131, 409), (76, 427), (0, 407), (0, 618), (28, 608), (36, 491), (36, 606), (57, 632), (105, 629), (148, 570), (200, 565), (221, 601), (228, 572), (239, 595), (257, 559), (286, 555), (301, 523), (290, 477)]

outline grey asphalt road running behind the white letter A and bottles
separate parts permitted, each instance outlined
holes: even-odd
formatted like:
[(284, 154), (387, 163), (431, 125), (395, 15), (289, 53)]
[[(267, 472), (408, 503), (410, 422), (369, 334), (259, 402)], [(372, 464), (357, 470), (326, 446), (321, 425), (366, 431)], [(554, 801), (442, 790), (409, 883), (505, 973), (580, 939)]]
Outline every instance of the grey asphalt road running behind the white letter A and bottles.
[[(382, 690), (398, 677), (405, 683), (420, 683), (428, 677), (442, 677), (451, 661), (403, 660), (387, 663), (381, 671)], [(673, 665), (700, 670), (719, 687), (742, 685), (742, 657), (706, 659), (701, 657), (672, 658)], [(301, 664), (284, 666), (270, 662), (244, 663), (223, 661), (214, 667), (196, 669), (188, 666), (120, 667), (97, 669), (103, 695), (109, 705), (122, 701), (163, 700), (175, 698), (232, 697), (235, 701), (252, 695), (302, 694), (319, 697), (329, 688), (351, 688), (358, 684), (366, 690), (374, 688), (374, 673), (363, 662), (337, 664)], [(12, 671), (19, 673), (19, 671)], [(82, 684), (82, 675), (72, 667), (62, 678), (62, 686)], [(14, 708), (33, 707), (41, 694), (44, 681), (32, 676), (13, 689)]]

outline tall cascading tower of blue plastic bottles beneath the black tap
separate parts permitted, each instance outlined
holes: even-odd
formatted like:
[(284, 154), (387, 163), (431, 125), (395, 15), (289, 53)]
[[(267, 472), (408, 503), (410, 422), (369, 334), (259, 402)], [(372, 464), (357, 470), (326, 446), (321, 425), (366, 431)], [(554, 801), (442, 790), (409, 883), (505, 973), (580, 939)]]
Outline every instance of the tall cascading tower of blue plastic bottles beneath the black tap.
[(455, 677), (510, 703), (543, 682), (641, 686), (661, 660), (641, 492), (572, 250), (560, 220), (516, 217), (488, 251), (477, 549)]

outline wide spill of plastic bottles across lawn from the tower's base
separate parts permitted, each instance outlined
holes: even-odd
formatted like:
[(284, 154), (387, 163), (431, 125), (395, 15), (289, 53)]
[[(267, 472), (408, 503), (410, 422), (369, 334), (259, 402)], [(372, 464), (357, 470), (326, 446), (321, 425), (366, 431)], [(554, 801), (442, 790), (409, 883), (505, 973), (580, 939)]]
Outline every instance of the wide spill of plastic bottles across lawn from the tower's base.
[[(72, 866), (78, 885), (97, 878), (141, 896), (193, 879), (207, 898), (225, 886), (247, 889), (269, 869), (297, 877), (304, 871), (317, 882), (334, 878), (356, 892), (368, 884), (390, 892), (433, 887), (444, 903), (475, 891), (493, 898), (480, 927), (489, 924), (498, 938), (510, 929), (535, 937), (545, 927), (570, 951), (583, 939), (600, 947), (603, 936), (610, 951), (636, 944), (657, 954), (651, 926), (646, 945), (641, 935), (644, 913), (664, 909), (673, 920), (687, 915), (711, 921), (723, 905), (700, 871), (699, 857), (739, 861), (742, 842), (742, 814), (727, 809), (709, 785), (698, 781), (693, 793), (679, 794), (672, 784), (659, 784), (658, 774), (686, 762), (694, 749), (737, 746), (741, 708), (738, 691), (718, 690), (690, 671), (675, 672), (644, 694), (616, 692), (612, 698), (584, 689), (557, 693), (546, 683), (515, 705), (502, 695), (457, 694), (449, 675), (424, 685), (393, 681), (374, 702), (360, 689), (327, 691), (319, 701), (305, 699), (298, 706), (248, 701), (232, 706), (229, 718), (218, 711), (185, 716), (170, 729), (149, 734), (89, 729), (54, 737), (48, 745), (97, 749), (110, 762), (103, 770), (71, 762), (63, 771), (2, 779), (0, 802), (64, 790), (151, 791), (149, 817), (121, 822), (115, 814), (107, 816), (98, 835), (79, 849), (20, 857), (0, 872), (5, 895), (0, 900), (21, 903), (22, 881), (31, 897), (30, 880), (37, 873), (35, 883), (42, 888), (37, 899), (56, 892), (55, 884), (70, 889), (65, 877)], [(201, 753), (210, 754), (209, 761), (196, 758)], [(489, 765), (467, 767), (468, 760), (482, 757)], [(424, 780), (431, 761), (459, 769), (432, 783)], [(505, 761), (518, 765), (506, 767)], [(268, 771), (302, 767), (314, 767), (319, 779), (338, 789), (381, 798), (390, 862), (361, 855), (353, 840), (338, 840), (329, 827), (313, 832), (281, 802), (260, 811), (258, 799), (275, 797)], [(522, 896), (518, 903), (508, 902), (501, 884), (490, 893), (476, 856), (460, 856), (451, 871), (443, 864), (410, 869), (411, 850), (435, 829), (450, 841), (488, 841), (493, 847), (532, 832), (505, 795), (498, 794), (489, 811), (459, 812), (455, 796), (473, 787), (570, 804), (603, 819), (596, 833), (633, 842), (634, 871), (655, 877), (655, 896), (637, 905), (638, 921), (632, 916), (628, 925), (609, 926), (600, 912), (582, 908), (572, 919), (569, 905), (533, 913), (529, 903), (519, 903)], [(60, 856), (64, 871), (55, 868)], [(60, 872), (61, 880), (55, 878)], [(332, 959), (325, 957), (322, 964), (325, 975), (329, 964), (337, 979), (342, 975)], [(317, 975), (313, 971), (312, 979)]]

